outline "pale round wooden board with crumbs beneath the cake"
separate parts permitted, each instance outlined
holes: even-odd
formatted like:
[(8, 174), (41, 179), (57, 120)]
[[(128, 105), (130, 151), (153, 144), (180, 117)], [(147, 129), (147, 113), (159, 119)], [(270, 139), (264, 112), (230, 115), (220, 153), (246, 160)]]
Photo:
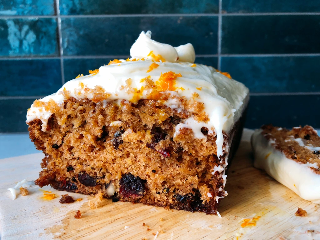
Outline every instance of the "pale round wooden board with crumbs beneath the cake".
[[(67, 192), (36, 188), (13, 200), (7, 190), (25, 178), (35, 180), (42, 154), (0, 160), (0, 236), (6, 239), (319, 239), (320, 210), (253, 168), (251, 130), (244, 130), (228, 172), (228, 196), (221, 199), (222, 218), (204, 213), (103, 200), (90, 209), (90, 196), (69, 193), (82, 201), (60, 204)], [(43, 191), (58, 195), (43, 199)], [(296, 217), (297, 207), (308, 217)], [(82, 219), (75, 219), (77, 210)], [(143, 224), (145, 223), (145, 224)], [(143, 226), (144, 225), (144, 226)], [(150, 230), (148, 230), (150, 229)], [(308, 231), (309, 230), (309, 231)], [(155, 236), (156, 235), (156, 236)]]

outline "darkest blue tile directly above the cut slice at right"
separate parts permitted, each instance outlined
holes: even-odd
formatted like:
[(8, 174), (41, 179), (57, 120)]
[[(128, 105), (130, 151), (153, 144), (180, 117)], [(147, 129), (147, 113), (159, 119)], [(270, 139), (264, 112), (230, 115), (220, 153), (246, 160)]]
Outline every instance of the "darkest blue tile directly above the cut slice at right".
[(245, 127), (311, 125), (320, 128), (320, 95), (251, 96)]

